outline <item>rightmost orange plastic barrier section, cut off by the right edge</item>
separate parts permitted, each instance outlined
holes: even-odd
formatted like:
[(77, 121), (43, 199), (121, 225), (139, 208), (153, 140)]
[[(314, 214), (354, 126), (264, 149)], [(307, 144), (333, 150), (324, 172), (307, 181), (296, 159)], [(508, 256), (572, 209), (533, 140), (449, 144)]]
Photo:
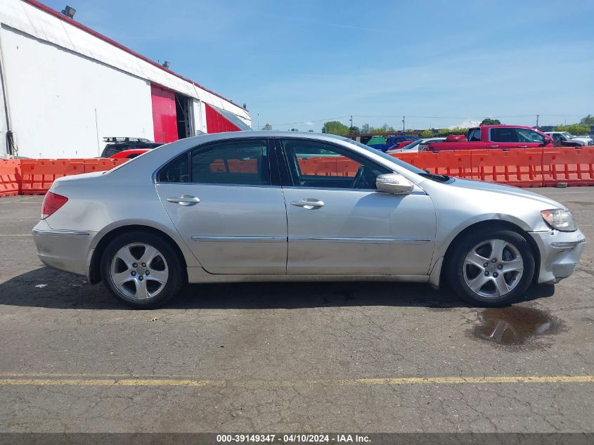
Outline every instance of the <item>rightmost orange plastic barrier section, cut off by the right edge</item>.
[(594, 185), (594, 147), (543, 150), (543, 184)]

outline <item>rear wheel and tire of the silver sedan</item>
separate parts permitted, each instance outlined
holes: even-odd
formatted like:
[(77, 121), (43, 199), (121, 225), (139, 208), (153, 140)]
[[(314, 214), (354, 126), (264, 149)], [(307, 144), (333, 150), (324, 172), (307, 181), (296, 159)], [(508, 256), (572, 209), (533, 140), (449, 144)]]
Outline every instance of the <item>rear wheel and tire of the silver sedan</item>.
[(144, 231), (122, 233), (110, 241), (101, 257), (101, 278), (112, 295), (136, 309), (165, 304), (185, 284), (183, 264), (173, 247)]

